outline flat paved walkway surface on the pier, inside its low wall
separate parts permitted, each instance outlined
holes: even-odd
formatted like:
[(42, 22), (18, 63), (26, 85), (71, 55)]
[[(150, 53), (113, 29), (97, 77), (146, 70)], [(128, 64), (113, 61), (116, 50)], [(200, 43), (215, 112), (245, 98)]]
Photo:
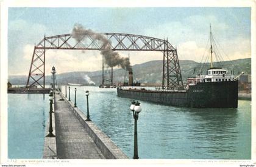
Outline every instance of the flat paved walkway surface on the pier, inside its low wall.
[(59, 101), (60, 94), (55, 94), (55, 129), (57, 154), (68, 159), (103, 159), (88, 132), (76, 118), (66, 101)]

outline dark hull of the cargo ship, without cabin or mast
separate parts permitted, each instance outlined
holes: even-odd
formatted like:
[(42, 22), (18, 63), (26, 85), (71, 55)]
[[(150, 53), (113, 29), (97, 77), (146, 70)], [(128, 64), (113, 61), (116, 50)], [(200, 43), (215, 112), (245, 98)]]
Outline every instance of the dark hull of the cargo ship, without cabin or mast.
[(202, 82), (186, 91), (123, 90), (119, 97), (156, 102), (158, 104), (194, 108), (237, 108), (238, 81)]

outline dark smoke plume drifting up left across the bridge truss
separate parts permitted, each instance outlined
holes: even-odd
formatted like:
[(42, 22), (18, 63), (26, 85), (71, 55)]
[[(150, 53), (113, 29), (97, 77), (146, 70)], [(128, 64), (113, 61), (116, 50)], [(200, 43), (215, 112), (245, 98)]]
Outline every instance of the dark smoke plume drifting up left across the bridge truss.
[(81, 24), (75, 24), (73, 28), (73, 38), (75, 38), (76, 41), (83, 41), (85, 40), (85, 35), (90, 35), (94, 40), (101, 41), (101, 54), (103, 55), (103, 61), (107, 63), (108, 66), (121, 66), (121, 68), (127, 71), (132, 71), (129, 59), (127, 57), (121, 57), (118, 52), (113, 51), (111, 41), (108, 41), (104, 35), (93, 32), (91, 29), (85, 29)]

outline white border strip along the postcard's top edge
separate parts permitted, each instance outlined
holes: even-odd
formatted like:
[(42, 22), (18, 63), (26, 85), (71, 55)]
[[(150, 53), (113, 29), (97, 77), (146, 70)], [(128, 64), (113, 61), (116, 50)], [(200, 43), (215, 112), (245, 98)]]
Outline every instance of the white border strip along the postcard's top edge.
[[(7, 1), (7, 0), (6, 0)], [(252, 7), (250, 0), (9, 0), (9, 7)]]

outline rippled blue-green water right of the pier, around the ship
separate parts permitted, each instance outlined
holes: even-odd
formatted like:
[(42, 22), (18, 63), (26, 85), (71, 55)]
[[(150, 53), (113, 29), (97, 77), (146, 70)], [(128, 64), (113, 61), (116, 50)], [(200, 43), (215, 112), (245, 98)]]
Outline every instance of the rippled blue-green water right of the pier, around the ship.
[[(65, 87), (62, 90), (65, 93)], [(132, 158), (134, 119), (129, 109), (132, 100), (117, 97), (115, 88), (77, 87), (77, 106), (84, 113), (85, 90), (90, 91), (90, 118)], [(251, 158), (251, 101), (239, 101), (238, 108), (207, 109), (140, 102), (140, 158)]]

